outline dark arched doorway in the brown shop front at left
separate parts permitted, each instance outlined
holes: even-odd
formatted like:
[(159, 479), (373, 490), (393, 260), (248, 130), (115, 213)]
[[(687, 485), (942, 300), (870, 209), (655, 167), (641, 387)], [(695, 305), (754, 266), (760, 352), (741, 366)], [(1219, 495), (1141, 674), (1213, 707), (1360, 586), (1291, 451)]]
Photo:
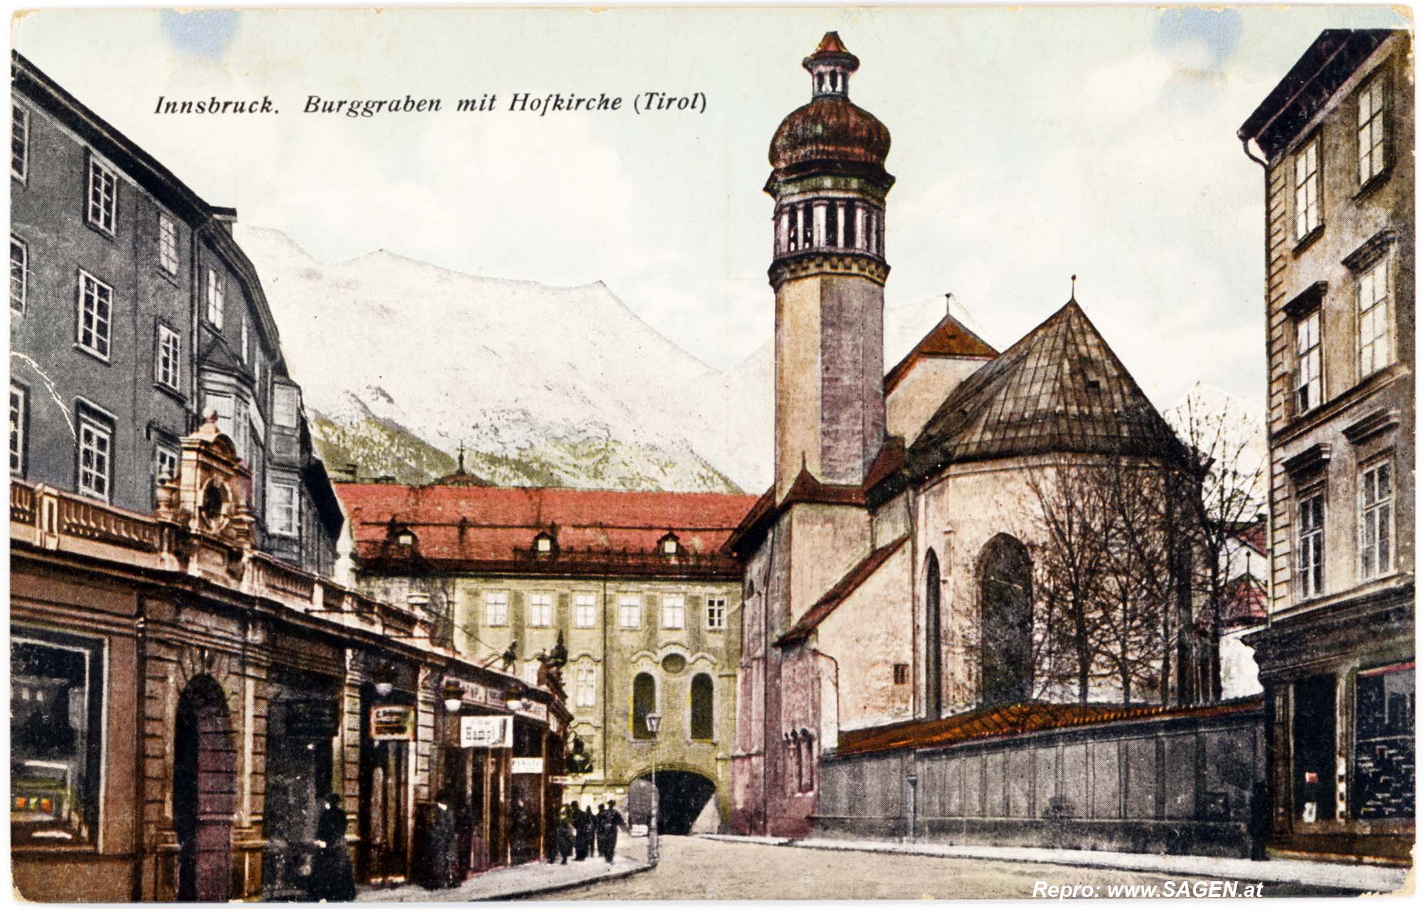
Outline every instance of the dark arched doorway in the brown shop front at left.
[(226, 902), (231, 895), (236, 758), (222, 687), (198, 676), (178, 698), (174, 738), (181, 900)]

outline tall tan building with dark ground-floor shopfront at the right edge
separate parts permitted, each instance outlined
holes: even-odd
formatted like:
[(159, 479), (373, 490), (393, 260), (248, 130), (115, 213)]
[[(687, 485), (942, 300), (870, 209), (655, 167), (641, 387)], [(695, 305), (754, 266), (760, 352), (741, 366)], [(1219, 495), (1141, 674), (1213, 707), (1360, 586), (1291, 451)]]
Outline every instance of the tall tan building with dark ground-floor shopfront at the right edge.
[(1239, 128), (1265, 168), (1271, 845), (1414, 832), (1413, 41), (1323, 31)]

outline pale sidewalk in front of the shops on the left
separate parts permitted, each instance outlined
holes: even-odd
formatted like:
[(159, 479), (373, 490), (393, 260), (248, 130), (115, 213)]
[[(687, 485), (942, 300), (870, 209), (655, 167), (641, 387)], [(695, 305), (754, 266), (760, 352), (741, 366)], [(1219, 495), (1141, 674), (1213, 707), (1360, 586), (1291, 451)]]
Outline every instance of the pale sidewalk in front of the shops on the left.
[(630, 844), (628, 841), (628, 836), (619, 838), (618, 854), (610, 865), (592, 855), (582, 862), (568, 859), (568, 865), (528, 862), (487, 871), (448, 891), (427, 891), (418, 883), (396, 888), (363, 886), (356, 893), (356, 902), (464, 903), (477, 899), (519, 899), (650, 871), (646, 862), (647, 841), (632, 839)]

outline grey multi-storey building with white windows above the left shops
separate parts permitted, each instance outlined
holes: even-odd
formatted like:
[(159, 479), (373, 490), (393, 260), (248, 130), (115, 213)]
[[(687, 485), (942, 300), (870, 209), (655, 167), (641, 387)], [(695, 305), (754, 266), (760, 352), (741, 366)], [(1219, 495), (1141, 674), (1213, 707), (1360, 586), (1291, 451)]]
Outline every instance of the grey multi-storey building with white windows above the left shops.
[(260, 548), (329, 573), (340, 506), (236, 212), (20, 54), (11, 73), (10, 475), (151, 512), (212, 410)]

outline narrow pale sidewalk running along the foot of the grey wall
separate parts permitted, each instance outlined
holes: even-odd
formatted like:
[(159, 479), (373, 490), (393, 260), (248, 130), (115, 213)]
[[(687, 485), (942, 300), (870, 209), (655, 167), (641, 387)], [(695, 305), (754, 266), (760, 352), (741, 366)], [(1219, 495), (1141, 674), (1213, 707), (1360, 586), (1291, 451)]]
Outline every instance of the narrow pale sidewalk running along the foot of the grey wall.
[(1393, 893), (1405, 886), (1409, 876), (1409, 871), (1405, 868), (1302, 862), (1295, 859), (1252, 862), (1249, 859), (1211, 858), (1204, 855), (1148, 855), (1143, 852), (1091, 852), (1086, 849), (1029, 849), (1017, 846), (951, 846), (932, 842), (887, 842), (879, 839), (788, 839), (777, 836), (733, 836), (727, 834), (703, 834), (702, 838), (730, 842), (760, 842), (800, 849), (895, 852), (901, 855), (931, 855), (939, 858), (1080, 865), (1084, 868), (1146, 871), (1190, 878), (1302, 883), (1370, 893)]

